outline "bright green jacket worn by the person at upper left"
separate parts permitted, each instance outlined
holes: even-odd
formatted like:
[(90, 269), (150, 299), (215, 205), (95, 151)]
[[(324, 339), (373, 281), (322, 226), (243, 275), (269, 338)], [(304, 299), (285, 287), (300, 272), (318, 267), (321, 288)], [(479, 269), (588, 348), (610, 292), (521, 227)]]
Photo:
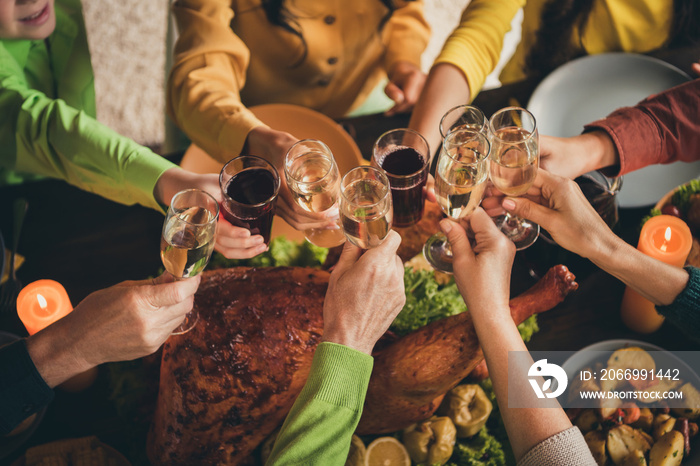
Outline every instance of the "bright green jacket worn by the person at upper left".
[(97, 122), (80, 0), (55, 10), (45, 41), (0, 40), (0, 185), (48, 176), (160, 210), (153, 188), (174, 165)]

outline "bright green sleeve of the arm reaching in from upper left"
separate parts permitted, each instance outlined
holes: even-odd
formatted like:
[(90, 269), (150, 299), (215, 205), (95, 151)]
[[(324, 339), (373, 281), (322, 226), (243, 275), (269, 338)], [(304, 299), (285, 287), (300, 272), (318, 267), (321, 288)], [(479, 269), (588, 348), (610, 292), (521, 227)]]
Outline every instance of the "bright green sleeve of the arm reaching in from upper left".
[(0, 171), (60, 178), (122, 204), (161, 210), (153, 188), (173, 163), (28, 88), (21, 70), (0, 63)]

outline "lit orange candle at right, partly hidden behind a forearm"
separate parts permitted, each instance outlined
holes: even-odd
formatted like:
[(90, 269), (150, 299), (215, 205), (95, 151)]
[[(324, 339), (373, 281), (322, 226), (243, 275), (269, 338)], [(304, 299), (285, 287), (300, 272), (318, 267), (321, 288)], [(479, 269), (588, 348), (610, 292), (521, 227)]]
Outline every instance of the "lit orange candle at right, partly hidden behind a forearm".
[[(693, 235), (683, 220), (657, 215), (642, 226), (637, 249), (666, 264), (683, 267), (692, 245)], [(664, 321), (654, 303), (629, 287), (622, 296), (621, 316), (627, 327), (639, 333), (654, 332)]]

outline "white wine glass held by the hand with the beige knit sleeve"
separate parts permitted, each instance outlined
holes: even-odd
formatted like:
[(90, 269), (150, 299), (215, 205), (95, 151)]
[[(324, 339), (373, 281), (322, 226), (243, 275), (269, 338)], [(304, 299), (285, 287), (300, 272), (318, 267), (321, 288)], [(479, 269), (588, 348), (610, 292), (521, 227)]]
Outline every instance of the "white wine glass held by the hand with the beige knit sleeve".
[[(435, 169), (435, 196), (450, 220), (468, 217), (484, 197), (490, 150), (486, 135), (466, 127), (453, 130), (443, 140)], [(428, 238), (423, 255), (435, 270), (452, 273), (452, 249), (443, 233)]]

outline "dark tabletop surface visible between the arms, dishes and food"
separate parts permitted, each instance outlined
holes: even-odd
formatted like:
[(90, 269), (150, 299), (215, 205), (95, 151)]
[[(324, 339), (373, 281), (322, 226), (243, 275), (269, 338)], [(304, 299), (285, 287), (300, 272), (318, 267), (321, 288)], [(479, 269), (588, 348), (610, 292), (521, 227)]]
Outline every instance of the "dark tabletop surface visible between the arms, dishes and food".
[[(655, 56), (691, 74), (690, 66), (700, 58), (699, 52), (695, 47), (658, 52)], [(485, 90), (476, 97), (474, 105), (487, 116), (513, 103), (525, 106), (540, 80), (530, 78)], [(408, 114), (375, 114), (344, 118), (339, 123), (355, 139), (363, 156), (369, 158), (372, 144), (380, 134), (406, 127), (408, 120)], [(177, 163), (182, 153), (165, 156)], [(159, 244), (164, 217), (157, 211), (121, 205), (55, 179), (3, 186), (0, 232), (6, 245), (10, 244), (12, 206), (19, 198), (28, 201), (18, 248), (25, 261), (17, 276), (24, 284), (39, 279), (56, 280), (65, 287), (75, 306), (96, 290), (124, 280), (155, 276), (161, 268)], [(615, 232), (636, 246), (640, 222), (650, 208), (620, 209)], [(518, 294), (534, 284), (538, 270), (555, 263), (563, 263), (576, 275), (579, 288), (556, 308), (538, 316), (540, 330), (528, 343), (530, 350), (577, 351), (609, 339), (641, 340), (674, 351), (698, 350), (698, 343), (668, 322), (648, 335), (626, 328), (620, 318), (625, 285), (591, 262), (542, 240), (516, 255), (512, 293)], [(0, 315), (0, 330), (26, 336), (14, 312)], [(56, 390), (54, 401), (31, 438), (0, 459), (0, 464), (11, 464), (35, 445), (88, 435), (96, 435), (127, 455), (133, 464), (140, 464), (142, 460), (129, 450), (133, 420), (120, 416), (115, 407), (110, 366), (101, 366), (97, 380), (83, 392)], [(124, 383), (128, 383), (126, 380)], [(144, 438), (144, 449), (145, 443)]]

